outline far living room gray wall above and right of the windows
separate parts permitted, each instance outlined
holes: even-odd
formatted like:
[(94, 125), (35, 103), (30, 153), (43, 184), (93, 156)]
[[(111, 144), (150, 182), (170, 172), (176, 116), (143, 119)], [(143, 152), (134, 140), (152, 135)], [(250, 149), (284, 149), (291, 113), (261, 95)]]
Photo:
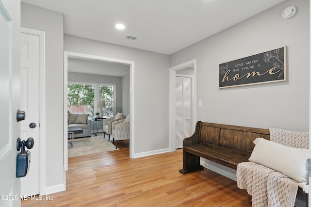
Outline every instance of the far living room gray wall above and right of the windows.
[[(68, 72), (68, 82), (116, 84), (116, 97), (115, 97), (116, 98), (116, 113), (123, 112), (123, 109), (122, 109), (122, 78), (121, 77)], [(95, 111), (96, 110), (97, 109), (95, 109)]]

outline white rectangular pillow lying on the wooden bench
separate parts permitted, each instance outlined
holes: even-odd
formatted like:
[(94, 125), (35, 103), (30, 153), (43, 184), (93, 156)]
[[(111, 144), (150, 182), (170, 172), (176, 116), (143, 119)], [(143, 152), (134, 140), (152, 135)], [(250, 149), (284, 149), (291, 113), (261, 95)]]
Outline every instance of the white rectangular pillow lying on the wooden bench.
[(308, 149), (289, 147), (263, 138), (257, 138), (254, 143), (256, 145), (249, 161), (274, 169), (300, 183), (308, 183)]

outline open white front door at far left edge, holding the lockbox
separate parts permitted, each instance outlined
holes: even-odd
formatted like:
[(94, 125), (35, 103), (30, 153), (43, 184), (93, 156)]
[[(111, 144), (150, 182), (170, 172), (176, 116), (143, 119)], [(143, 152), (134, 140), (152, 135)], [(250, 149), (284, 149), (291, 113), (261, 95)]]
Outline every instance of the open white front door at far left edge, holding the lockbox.
[(20, 206), (20, 181), (16, 178), (16, 142), (20, 128), (19, 28), (20, 1), (0, 0), (0, 206)]

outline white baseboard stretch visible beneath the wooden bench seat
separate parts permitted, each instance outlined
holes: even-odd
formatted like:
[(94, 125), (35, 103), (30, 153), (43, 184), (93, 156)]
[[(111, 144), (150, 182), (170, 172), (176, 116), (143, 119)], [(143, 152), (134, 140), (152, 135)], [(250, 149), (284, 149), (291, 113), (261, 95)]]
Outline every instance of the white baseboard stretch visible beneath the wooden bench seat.
[(200, 159), (200, 164), (205, 168), (207, 168), (208, 170), (214, 171), (215, 173), (224, 175), (225, 177), (228, 177), (231, 180), (237, 181), (237, 171), (234, 169), (231, 169), (224, 165), (203, 158)]

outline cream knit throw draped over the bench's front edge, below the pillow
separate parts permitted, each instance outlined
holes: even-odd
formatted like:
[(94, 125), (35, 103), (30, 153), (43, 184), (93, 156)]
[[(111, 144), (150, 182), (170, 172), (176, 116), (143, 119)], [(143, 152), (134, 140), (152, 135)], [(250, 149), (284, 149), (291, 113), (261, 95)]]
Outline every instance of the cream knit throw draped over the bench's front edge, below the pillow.
[(252, 195), (252, 207), (294, 207), (298, 182), (255, 162), (237, 168), (238, 188)]

